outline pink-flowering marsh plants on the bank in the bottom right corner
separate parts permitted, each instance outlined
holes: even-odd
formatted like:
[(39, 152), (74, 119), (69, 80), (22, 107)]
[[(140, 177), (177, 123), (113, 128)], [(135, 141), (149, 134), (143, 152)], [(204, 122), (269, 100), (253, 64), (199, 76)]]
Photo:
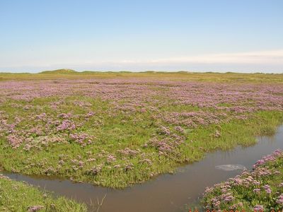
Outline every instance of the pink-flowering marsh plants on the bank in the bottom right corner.
[(255, 163), (251, 172), (207, 188), (209, 210), (281, 211), (283, 209), (283, 152), (275, 151)]

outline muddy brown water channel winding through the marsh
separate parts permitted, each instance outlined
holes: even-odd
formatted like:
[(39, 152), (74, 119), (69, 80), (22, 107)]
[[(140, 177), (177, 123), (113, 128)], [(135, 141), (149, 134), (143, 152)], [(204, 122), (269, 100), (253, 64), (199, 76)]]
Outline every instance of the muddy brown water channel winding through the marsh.
[[(262, 158), (262, 155), (270, 154), (277, 148), (283, 149), (283, 126), (279, 127), (275, 136), (258, 138), (255, 146), (209, 153), (200, 162), (178, 168), (174, 175), (161, 175), (144, 184), (137, 184), (122, 190), (96, 187), (91, 184), (75, 184), (69, 180), (8, 173), (5, 175), (11, 179), (38, 185), (55, 194), (74, 198), (88, 205), (91, 201), (96, 202), (97, 199), (103, 199), (103, 196), (107, 194), (100, 212), (185, 211), (185, 204), (188, 205), (188, 208), (195, 205), (205, 187), (238, 175), (243, 166), (251, 169), (256, 160)], [(219, 165), (230, 166), (217, 167)], [(234, 167), (240, 169), (233, 170)]]

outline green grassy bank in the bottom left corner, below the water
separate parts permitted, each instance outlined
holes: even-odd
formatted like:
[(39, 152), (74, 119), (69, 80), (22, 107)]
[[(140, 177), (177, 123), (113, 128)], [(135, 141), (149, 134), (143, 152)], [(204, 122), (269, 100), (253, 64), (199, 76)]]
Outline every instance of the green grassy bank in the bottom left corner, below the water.
[(23, 182), (0, 175), (0, 211), (87, 211), (83, 204), (64, 197), (54, 198)]

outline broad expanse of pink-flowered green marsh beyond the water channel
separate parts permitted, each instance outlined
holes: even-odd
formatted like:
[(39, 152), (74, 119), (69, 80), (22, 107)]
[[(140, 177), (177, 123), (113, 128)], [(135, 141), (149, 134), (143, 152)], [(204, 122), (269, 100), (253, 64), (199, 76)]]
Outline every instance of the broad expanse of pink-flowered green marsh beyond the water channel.
[(0, 167), (122, 188), (253, 144), (283, 120), (281, 75), (119, 74), (4, 74)]

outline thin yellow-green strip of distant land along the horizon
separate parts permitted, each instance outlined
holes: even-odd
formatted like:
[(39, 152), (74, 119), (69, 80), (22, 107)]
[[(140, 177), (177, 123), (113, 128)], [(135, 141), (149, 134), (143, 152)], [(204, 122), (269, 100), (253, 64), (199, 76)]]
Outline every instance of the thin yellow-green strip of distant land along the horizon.
[(0, 81), (4, 80), (33, 80), (33, 79), (57, 79), (57, 78), (163, 78), (179, 81), (233, 81), (233, 82), (283, 82), (283, 74), (266, 73), (193, 73), (193, 72), (96, 72), (83, 71), (62, 73), (62, 71), (50, 71), (43, 73), (0, 73)]

